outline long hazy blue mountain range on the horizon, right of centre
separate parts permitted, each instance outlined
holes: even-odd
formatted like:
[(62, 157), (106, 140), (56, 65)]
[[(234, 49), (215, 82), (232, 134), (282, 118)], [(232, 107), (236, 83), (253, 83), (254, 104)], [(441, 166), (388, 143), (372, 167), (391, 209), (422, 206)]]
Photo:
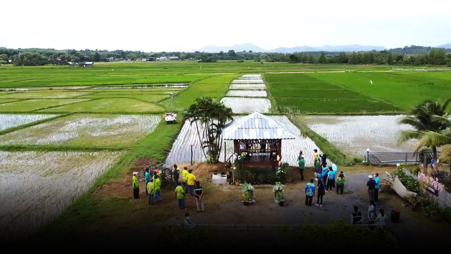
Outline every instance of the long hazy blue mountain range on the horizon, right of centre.
[(301, 47), (278, 47), (275, 49), (264, 49), (258, 46), (253, 45), (252, 43), (244, 43), (239, 45), (234, 45), (230, 47), (218, 47), (214, 45), (201, 47), (198, 49), (191, 49), (188, 52), (220, 52), (224, 51), (227, 52), (229, 50), (235, 50), (235, 52), (242, 52), (242, 51), (248, 51), (252, 50), (253, 52), (277, 52), (277, 53), (293, 53), (297, 52), (299, 49), (299, 52), (309, 52), (309, 51), (329, 51), (329, 52), (351, 52), (351, 51), (371, 51), (371, 50), (385, 50), (387, 48), (381, 47), (381, 46), (363, 46), (359, 44), (354, 45), (345, 45), (345, 46), (331, 46), (331, 45), (324, 45), (322, 47), (309, 47), (309, 46), (301, 46)]

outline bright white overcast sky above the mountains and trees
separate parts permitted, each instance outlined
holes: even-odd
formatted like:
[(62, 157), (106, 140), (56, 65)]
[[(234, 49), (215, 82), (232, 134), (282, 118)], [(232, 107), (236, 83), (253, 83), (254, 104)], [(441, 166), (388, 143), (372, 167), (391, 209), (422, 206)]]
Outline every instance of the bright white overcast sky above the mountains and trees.
[(0, 47), (172, 52), (207, 45), (451, 43), (451, 0), (14, 0)]

